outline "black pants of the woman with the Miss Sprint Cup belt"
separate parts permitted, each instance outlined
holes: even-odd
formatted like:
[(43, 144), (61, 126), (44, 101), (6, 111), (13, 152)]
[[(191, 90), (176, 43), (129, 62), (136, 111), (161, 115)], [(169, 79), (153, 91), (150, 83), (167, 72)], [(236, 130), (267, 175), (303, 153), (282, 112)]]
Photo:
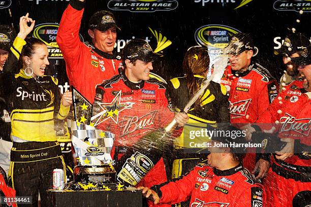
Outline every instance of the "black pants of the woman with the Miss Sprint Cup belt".
[[(55, 142), (48, 143), (49, 144), (42, 144), (41, 147), (44, 148), (48, 145), (55, 145)], [(13, 144), (13, 148), (14, 147), (16, 147), (15, 143)], [(18, 147), (16, 147), (16, 150), (18, 150)], [(11, 162), (11, 183), (13, 189), (16, 190), (16, 196), (32, 197), (32, 204), (18, 204), (18, 207), (37, 207), (38, 192), (40, 192), (41, 206), (52, 206), (51, 194), (48, 193), (47, 190), (52, 189), (53, 187), (53, 169), (55, 168), (63, 169), (64, 173), (66, 172), (63, 156), (40, 161)], [(66, 179), (66, 175), (64, 175), (64, 177)]]

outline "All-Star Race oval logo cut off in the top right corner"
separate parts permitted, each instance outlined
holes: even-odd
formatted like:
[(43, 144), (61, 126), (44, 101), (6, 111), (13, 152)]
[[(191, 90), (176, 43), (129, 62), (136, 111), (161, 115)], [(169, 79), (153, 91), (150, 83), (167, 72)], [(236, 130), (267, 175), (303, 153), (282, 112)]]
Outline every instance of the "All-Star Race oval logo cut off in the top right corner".
[(311, 12), (311, 0), (278, 0), (274, 2), (273, 8), (278, 11)]

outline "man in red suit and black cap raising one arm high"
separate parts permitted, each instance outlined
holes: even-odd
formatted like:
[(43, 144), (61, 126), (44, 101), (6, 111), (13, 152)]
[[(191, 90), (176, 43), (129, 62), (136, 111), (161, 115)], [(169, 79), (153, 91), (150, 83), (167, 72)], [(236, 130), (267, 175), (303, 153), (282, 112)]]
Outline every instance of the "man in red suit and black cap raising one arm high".
[[(56, 41), (66, 61), (70, 85), (92, 102), (96, 85), (118, 74), (121, 57), (113, 51), (118, 27), (111, 12), (100, 11), (91, 17), (88, 33), (92, 44), (80, 41), (79, 29), (84, 11), (83, 2), (79, 0), (70, 2), (61, 17)], [(104, 17), (109, 21), (105, 22), (102, 19)], [(100, 35), (94, 36), (97, 33)]]

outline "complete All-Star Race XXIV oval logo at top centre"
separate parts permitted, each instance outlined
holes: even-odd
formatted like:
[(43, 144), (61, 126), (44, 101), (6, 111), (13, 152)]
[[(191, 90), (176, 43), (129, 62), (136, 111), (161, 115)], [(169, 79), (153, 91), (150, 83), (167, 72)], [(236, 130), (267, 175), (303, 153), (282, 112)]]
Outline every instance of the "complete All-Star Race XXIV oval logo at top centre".
[(176, 0), (111, 0), (107, 6), (112, 10), (155, 12), (174, 10), (178, 7), (178, 2)]

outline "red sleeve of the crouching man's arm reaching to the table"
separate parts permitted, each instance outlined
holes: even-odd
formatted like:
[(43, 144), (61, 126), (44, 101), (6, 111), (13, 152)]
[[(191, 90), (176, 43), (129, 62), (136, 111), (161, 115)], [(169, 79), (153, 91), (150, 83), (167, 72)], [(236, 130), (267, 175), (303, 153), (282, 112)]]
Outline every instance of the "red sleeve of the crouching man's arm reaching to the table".
[(197, 167), (191, 170), (188, 174), (159, 186), (162, 193), (160, 203), (174, 204), (189, 198), (192, 190), (195, 189), (196, 175)]

